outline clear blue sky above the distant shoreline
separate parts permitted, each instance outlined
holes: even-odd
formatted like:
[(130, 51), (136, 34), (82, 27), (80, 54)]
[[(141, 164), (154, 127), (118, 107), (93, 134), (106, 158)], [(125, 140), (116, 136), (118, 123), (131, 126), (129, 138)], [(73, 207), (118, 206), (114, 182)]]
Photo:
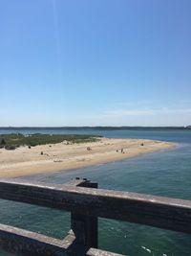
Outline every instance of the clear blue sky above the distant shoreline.
[(0, 0), (0, 126), (191, 124), (190, 0)]

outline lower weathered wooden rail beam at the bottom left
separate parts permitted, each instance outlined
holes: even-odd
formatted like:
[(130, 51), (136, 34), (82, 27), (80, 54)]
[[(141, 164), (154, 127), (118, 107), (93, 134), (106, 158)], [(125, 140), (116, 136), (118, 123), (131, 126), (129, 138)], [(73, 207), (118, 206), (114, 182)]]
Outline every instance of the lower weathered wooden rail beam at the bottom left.
[(74, 235), (54, 239), (25, 229), (0, 224), (0, 247), (19, 256), (122, 256), (75, 244)]

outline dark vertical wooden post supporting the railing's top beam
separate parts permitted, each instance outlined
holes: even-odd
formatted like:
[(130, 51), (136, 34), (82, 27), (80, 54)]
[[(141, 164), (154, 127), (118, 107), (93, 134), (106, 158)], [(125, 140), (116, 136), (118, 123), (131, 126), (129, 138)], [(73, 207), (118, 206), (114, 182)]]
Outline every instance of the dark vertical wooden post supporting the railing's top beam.
[[(83, 180), (77, 186), (97, 188), (97, 183)], [(97, 217), (71, 213), (71, 228), (76, 244), (83, 244), (85, 248), (97, 248)]]

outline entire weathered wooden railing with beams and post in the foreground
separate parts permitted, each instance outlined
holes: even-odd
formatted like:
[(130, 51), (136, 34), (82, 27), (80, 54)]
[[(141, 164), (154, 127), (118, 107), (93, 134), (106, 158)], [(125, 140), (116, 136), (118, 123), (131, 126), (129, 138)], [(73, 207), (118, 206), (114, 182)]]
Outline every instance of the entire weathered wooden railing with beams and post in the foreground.
[(0, 179), (0, 198), (71, 212), (64, 240), (0, 224), (0, 247), (25, 256), (106, 256), (97, 249), (97, 218), (130, 221), (191, 233), (191, 201), (97, 189), (76, 178), (64, 185)]

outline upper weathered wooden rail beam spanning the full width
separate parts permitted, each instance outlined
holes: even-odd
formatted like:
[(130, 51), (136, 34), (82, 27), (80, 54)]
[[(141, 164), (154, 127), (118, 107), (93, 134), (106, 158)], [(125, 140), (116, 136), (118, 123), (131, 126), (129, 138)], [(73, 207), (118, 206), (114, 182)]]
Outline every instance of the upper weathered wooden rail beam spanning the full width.
[(0, 198), (191, 233), (190, 200), (17, 179), (0, 179)]

